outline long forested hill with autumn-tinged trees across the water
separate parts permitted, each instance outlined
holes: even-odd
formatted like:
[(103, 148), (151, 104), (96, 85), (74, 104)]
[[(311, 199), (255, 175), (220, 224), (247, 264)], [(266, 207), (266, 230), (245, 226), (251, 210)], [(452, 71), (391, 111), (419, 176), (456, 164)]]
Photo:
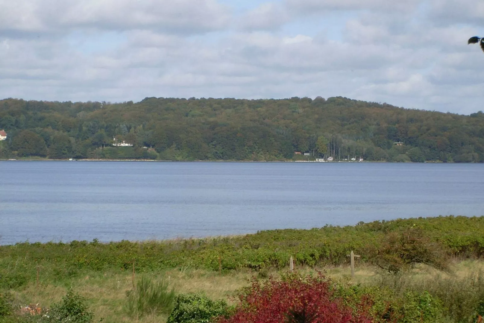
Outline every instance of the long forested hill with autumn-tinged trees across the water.
[(1, 129), (3, 159), (484, 161), (482, 112), (408, 110), (344, 97), (5, 99)]

